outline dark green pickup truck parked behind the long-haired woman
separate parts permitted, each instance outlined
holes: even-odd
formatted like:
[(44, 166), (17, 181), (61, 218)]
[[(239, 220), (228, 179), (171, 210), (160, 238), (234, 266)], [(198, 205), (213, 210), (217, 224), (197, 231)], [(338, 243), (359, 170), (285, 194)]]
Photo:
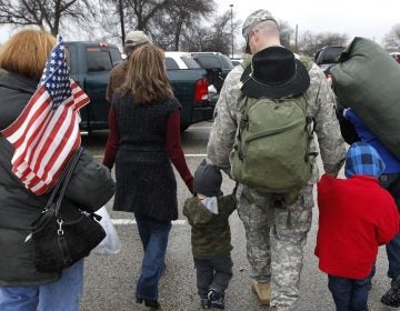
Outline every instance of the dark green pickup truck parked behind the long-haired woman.
[[(108, 129), (110, 103), (106, 100), (106, 89), (112, 67), (122, 61), (120, 51), (113, 44), (88, 41), (68, 41), (66, 49), (70, 76), (90, 98), (90, 103), (81, 109), (81, 130), (90, 133)], [(209, 100), (206, 70), (170, 69), (167, 74), (182, 106), (181, 130), (212, 119), (214, 104)]]

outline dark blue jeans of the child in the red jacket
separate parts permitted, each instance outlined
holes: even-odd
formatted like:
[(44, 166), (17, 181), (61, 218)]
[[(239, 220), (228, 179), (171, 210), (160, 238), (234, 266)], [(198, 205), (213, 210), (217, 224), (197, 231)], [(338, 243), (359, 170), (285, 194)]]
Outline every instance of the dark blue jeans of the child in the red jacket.
[(352, 280), (328, 274), (328, 288), (337, 311), (368, 311), (369, 278)]

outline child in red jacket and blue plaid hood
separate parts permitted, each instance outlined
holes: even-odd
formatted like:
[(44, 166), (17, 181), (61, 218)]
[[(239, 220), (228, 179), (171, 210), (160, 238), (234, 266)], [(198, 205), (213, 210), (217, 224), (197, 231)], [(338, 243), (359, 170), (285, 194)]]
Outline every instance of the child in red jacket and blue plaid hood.
[(318, 183), (319, 229), (316, 255), (328, 273), (338, 311), (368, 310), (368, 277), (378, 247), (399, 231), (399, 212), (379, 185), (384, 163), (373, 147), (353, 143), (346, 159), (347, 179), (322, 175)]

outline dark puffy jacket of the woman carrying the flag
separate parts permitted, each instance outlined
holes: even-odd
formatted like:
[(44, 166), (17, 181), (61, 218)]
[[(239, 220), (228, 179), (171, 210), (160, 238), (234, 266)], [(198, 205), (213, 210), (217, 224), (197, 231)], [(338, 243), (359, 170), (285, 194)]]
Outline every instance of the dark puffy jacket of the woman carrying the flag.
[[(20, 114), (37, 84), (38, 81), (0, 69), (0, 131)], [(0, 134), (0, 285), (47, 284), (60, 275), (36, 271), (33, 244), (26, 243), (24, 239), (46, 205), (48, 194), (36, 195), (24, 188), (11, 172), (12, 154), (12, 146)], [(68, 185), (64, 204), (73, 202), (97, 210), (113, 192), (114, 182), (109, 170), (84, 151)]]

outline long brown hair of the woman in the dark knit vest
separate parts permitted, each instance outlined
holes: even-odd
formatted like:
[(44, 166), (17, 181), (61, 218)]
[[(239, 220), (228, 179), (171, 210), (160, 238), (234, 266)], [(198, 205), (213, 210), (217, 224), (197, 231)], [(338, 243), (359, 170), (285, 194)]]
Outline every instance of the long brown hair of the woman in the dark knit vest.
[(172, 89), (167, 77), (163, 51), (153, 44), (138, 47), (129, 58), (121, 89), (124, 94), (130, 92), (138, 106), (170, 99)]

